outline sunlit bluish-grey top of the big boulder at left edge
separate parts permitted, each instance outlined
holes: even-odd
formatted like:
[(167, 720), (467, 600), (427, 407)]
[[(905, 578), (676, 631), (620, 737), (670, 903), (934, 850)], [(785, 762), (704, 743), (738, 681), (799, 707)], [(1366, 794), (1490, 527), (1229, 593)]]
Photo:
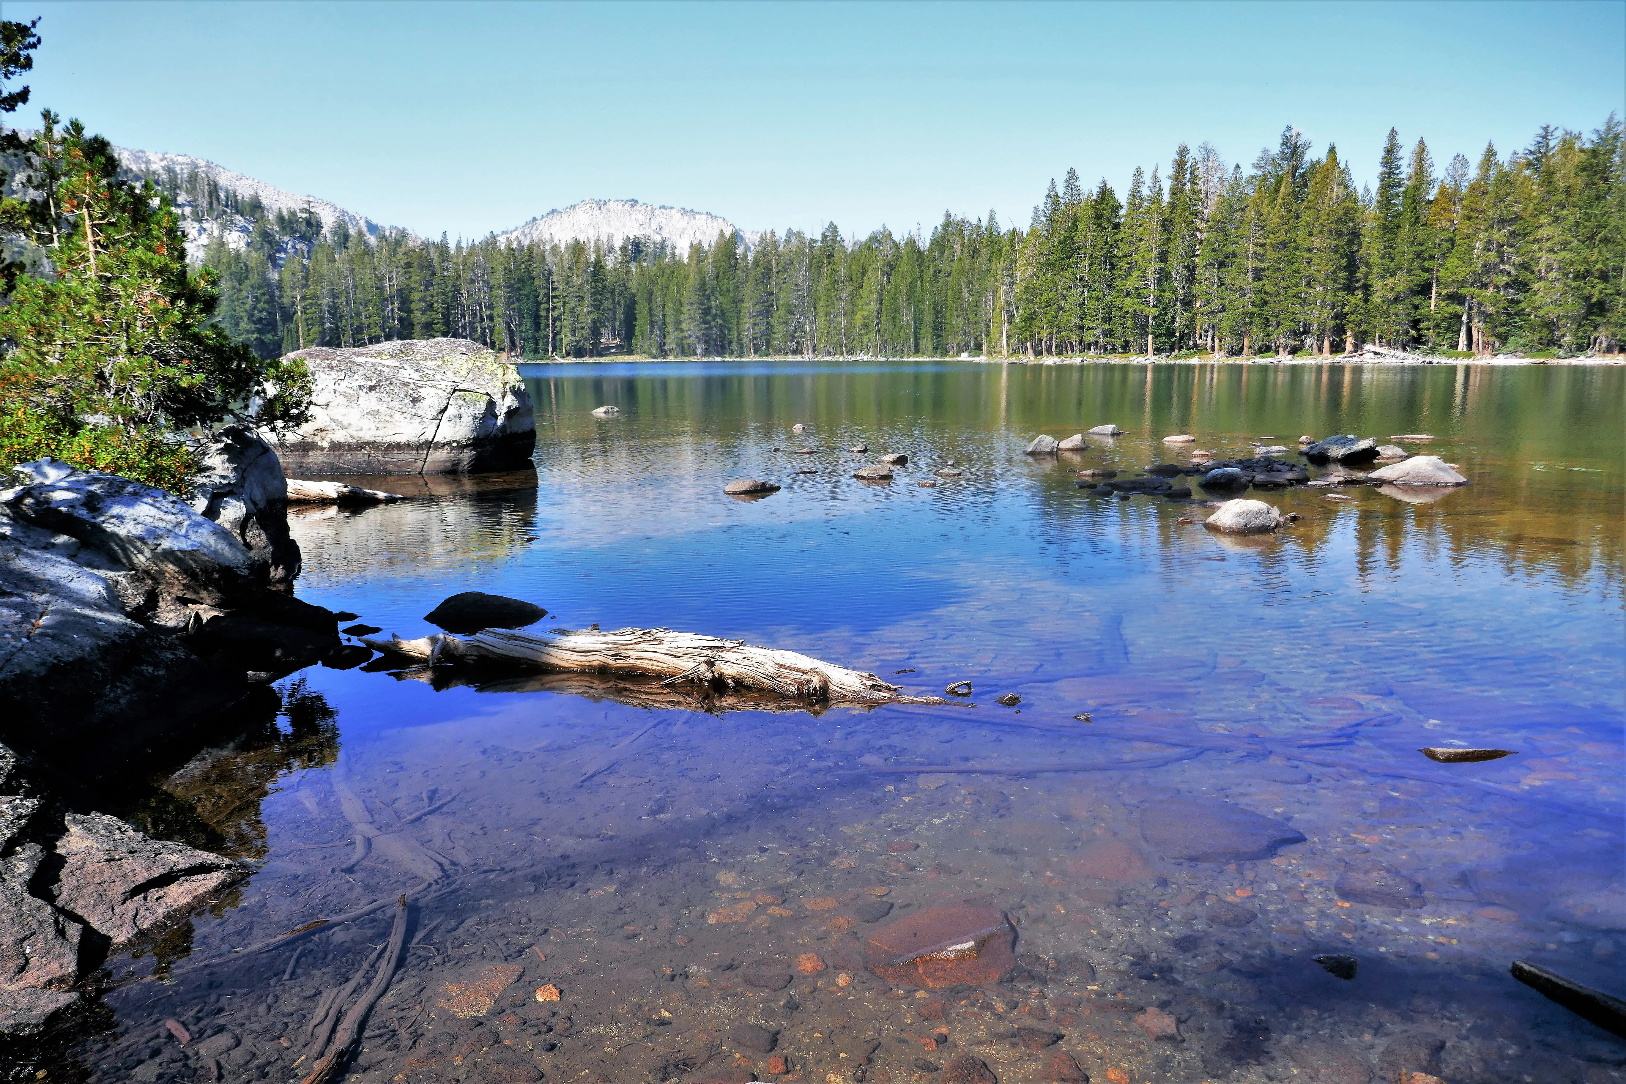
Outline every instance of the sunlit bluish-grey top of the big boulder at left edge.
[(0, 502), (16, 520), (75, 538), (80, 564), (135, 572), (159, 595), (184, 595), (210, 606), (257, 595), (249, 548), (180, 497), (55, 460), (21, 463), (15, 473), (24, 484), (7, 491)]

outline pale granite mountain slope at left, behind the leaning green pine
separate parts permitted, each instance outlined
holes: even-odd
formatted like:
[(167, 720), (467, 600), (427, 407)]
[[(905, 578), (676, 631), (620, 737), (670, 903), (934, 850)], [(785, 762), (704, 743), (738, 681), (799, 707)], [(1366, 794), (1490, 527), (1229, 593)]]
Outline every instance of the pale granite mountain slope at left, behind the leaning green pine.
[[(241, 210), (244, 210), (244, 205), (250, 198), (259, 200), (268, 215), (276, 215), (278, 211), (304, 215), (309, 210), (322, 219), (322, 229), (332, 229), (335, 223), (343, 223), (351, 232), (367, 234), (369, 237), (377, 237), (379, 232), (387, 229), (366, 215), (346, 211), (328, 200), (276, 189), (263, 180), (233, 172), (203, 158), (137, 151), (127, 146), (114, 150), (119, 153), (119, 163), (128, 172), (151, 177), (158, 185), (164, 185), (166, 177), (172, 177), (176, 185), (182, 185), (182, 190), (176, 193), (176, 210), (180, 211), (180, 224), (187, 234), (187, 255), (193, 260), (203, 257), (203, 249), (208, 247), (208, 241), (216, 229), (223, 231), (226, 244), (233, 249), (247, 247), (249, 237), (254, 234), (254, 221), (244, 216)], [(189, 177), (211, 180), (220, 190), (233, 193), (236, 197), (233, 203), (236, 203), (237, 210), (200, 206), (193, 193), (185, 190)], [(192, 187), (195, 189), (197, 185)]]

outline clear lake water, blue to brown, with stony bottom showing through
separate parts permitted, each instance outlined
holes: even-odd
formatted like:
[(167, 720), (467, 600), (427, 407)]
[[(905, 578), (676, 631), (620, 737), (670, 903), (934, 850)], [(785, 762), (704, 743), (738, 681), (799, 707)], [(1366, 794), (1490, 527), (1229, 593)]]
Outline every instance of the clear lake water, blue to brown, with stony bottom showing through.
[[(937, 1079), (915, 1060), (959, 1053), (1044, 1081), (1057, 1050), (1096, 1081), (1626, 1074), (1626, 1047), (1506, 973), (1530, 959), (1621, 993), (1619, 369), (528, 372), (535, 473), (298, 517), (301, 596), (421, 635), (442, 596), (488, 590), (546, 606), (548, 627), (746, 637), (919, 692), (969, 679), (974, 707), (712, 717), (580, 676), (298, 674), (231, 720), (246, 733), (153, 780), (150, 824), (262, 865), (190, 946), (115, 960), (115, 977), (154, 959), (167, 977), (109, 993), (94, 1079), (208, 1079), (169, 1017), (236, 1037), (226, 1079), (299, 1076), (319, 995), (387, 917), (231, 949), (403, 891), (413, 947), (356, 1079), (769, 1076), (740, 1022), (779, 1029), (776, 1079), (803, 1081)], [(602, 403), (623, 413), (592, 416)], [(1101, 423), (1130, 432), (1020, 453)], [(1431, 432), (1473, 484), (1423, 504), (1249, 494), (1302, 517), (1268, 540), (1073, 486), (1083, 466), (1184, 462), (1171, 432), (1218, 455)], [(859, 442), (868, 457), (846, 452)], [(893, 483), (850, 478), (885, 452), (911, 455)], [(933, 478), (950, 460), (963, 476)], [(725, 497), (741, 476), (784, 489)], [(1020, 709), (993, 704), (1005, 692)], [(1517, 756), (1416, 752), (1454, 743)], [(413, 847), (350, 865), (346, 788)], [(1171, 856), (1146, 817), (1176, 796), (1306, 839), (1275, 858)], [(1340, 899), (1372, 861), (1419, 884), (1421, 907)], [(893, 913), (863, 921), (875, 899)], [(924, 1017), (862, 969), (863, 938), (964, 899), (1011, 917), (1026, 970)], [(805, 952), (826, 970), (777, 991), (743, 980)], [(1358, 977), (1325, 973), (1325, 952), (1356, 956)], [(559, 1003), (535, 1001), (543, 983)], [(1177, 1034), (1153, 1038), (1151, 1009)], [(940, 1025), (937, 1050), (922, 1038)], [(1065, 1037), (1034, 1051), (1015, 1027)]]

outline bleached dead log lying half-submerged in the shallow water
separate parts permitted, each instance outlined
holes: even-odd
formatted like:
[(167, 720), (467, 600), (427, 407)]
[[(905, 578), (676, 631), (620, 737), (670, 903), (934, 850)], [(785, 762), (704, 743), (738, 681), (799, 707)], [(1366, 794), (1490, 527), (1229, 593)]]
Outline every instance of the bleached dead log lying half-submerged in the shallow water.
[(473, 635), (436, 634), (418, 640), (392, 635), (363, 639), (377, 652), (421, 663), (478, 663), (603, 674), (647, 674), (665, 686), (698, 684), (714, 689), (761, 689), (782, 697), (831, 704), (945, 704), (938, 697), (899, 692), (875, 674), (847, 670), (797, 652), (746, 647), (672, 629), (613, 632), (532, 632), (486, 629)]

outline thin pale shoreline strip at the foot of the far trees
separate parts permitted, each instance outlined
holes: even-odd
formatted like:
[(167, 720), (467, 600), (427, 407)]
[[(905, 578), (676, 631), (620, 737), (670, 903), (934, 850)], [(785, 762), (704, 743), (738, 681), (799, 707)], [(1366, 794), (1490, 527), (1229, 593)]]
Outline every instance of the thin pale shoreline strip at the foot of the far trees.
[(642, 354), (603, 354), (598, 358), (537, 358), (537, 359), (509, 359), (512, 366), (593, 366), (608, 362), (634, 362), (649, 366), (663, 364), (685, 364), (696, 361), (720, 361), (720, 362), (751, 362), (751, 361), (785, 361), (785, 362), (808, 362), (808, 361), (872, 361), (872, 362), (943, 362), (943, 361), (963, 361), (967, 364), (979, 366), (1626, 366), (1626, 354), (1597, 354), (1597, 356), (1580, 356), (1580, 358), (1524, 358), (1524, 356), (1496, 356), (1496, 358), (1441, 358), (1433, 354), (1333, 354), (1332, 358), (1322, 356), (1260, 356), (1260, 358), (1215, 358), (1210, 354), (1197, 358), (1146, 358), (1146, 356), (1115, 356), (1115, 354), (1072, 354), (1060, 358), (966, 358), (966, 356), (948, 356), (948, 358), (932, 358), (932, 356), (872, 356), (872, 354), (849, 354), (846, 358), (839, 356), (815, 356), (808, 358), (805, 354), (761, 354), (756, 358), (737, 358), (737, 356), (709, 356), (709, 358), (647, 358)]

